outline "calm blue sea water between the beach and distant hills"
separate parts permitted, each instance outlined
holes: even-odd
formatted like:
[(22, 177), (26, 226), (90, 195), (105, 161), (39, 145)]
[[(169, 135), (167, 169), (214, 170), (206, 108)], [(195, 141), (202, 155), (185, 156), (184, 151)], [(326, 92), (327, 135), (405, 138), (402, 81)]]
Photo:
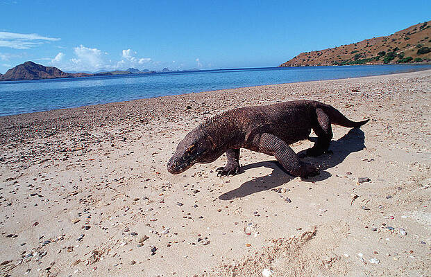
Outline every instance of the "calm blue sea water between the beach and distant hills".
[(0, 116), (216, 89), (423, 69), (431, 69), (431, 65), (271, 67), (0, 82)]

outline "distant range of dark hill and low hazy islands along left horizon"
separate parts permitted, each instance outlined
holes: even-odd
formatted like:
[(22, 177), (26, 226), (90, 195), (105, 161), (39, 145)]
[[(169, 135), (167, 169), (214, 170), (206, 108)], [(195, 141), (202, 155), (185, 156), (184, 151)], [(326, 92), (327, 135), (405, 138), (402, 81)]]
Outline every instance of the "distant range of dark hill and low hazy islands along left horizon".
[[(192, 69), (192, 71), (198, 71), (198, 69)], [(12, 69), (9, 69), (6, 73), (0, 74), (0, 81), (19, 81), (19, 80), (39, 80), (39, 79), (54, 79), (54, 78), (76, 78), (76, 77), (90, 77), (90, 76), (108, 76), (108, 75), (124, 75), (124, 74), (145, 74), (145, 73), (169, 73), (169, 72), (180, 72), (170, 71), (166, 67), (162, 71), (149, 71), (149, 69), (129, 68), (126, 71), (98, 71), (96, 73), (76, 73), (76, 72), (64, 72), (53, 66), (43, 66), (42, 64), (36, 64), (34, 62), (24, 62), (19, 64)]]

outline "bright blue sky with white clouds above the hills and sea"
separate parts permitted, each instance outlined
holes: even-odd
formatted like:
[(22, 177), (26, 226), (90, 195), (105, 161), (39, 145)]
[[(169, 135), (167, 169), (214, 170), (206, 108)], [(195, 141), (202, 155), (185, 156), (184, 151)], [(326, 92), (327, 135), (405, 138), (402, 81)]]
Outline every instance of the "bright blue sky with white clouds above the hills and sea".
[(430, 20), (431, 1), (0, 0), (0, 73), (278, 66)]

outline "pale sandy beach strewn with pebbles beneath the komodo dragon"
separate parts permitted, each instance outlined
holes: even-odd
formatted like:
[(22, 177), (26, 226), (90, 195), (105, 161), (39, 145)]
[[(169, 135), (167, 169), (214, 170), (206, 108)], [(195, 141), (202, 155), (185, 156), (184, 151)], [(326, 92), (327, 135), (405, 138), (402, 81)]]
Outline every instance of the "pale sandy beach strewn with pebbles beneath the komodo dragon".
[[(428, 70), (1, 117), (0, 273), (430, 276), (430, 81)], [(234, 177), (214, 172), (226, 157), (167, 172), (205, 118), (296, 99), (371, 118), (334, 126), (333, 153), (305, 158), (321, 175), (289, 177), (248, 150)]]

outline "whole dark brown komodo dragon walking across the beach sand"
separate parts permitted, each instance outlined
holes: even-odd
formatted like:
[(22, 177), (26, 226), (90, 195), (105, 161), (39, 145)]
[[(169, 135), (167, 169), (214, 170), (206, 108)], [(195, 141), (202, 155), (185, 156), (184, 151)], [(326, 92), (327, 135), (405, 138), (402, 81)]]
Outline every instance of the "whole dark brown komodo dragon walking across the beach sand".
[(218, 175), (235, 175), (239, 173), (239, 150), (246, 148), (274, 156), (290, 175), (313, 177), (319, 175), (319, 169), (301, 161), (289, 144), (309, 138), (313, 129), (317, 141), (306, 153), (316, 157), (329, 148), (331, 123), (352, 128), (368, 120), (348, 120), (334, 107), (311, 100), (233, 109), (205, 120), (189, 132), (178, 143), (167, 170), (179, 174), (194, 163), (211, 163), (226, 153), (228, 163), (217, 168)]

